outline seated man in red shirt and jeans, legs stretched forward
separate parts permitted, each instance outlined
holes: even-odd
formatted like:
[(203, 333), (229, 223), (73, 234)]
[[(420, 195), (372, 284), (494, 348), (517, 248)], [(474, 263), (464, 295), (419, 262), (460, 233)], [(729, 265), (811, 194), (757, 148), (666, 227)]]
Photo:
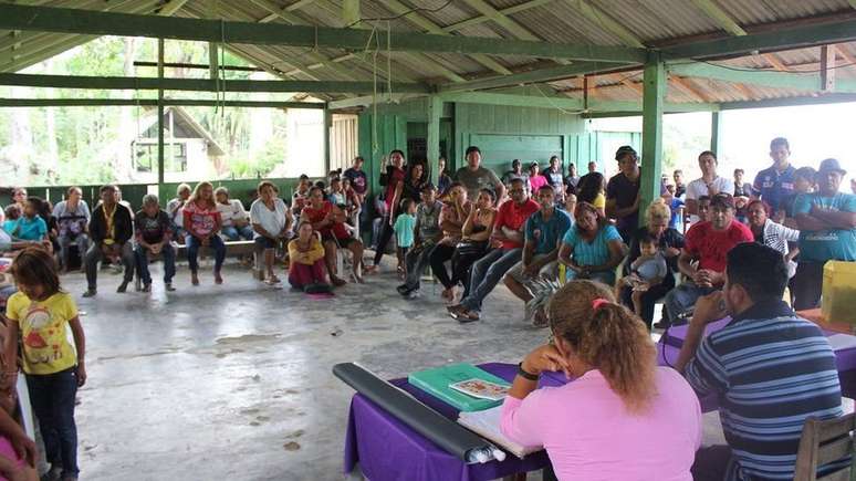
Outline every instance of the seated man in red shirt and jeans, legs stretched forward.
[(484, 297), (523, 255), (523, 228), (526, 219), (539, 210), (539, 205), (529, 198), (522, 179), (511, 180), (509, 195), (511, 200), (500, 206), (491, 237), (491, 241), (499, 243), (500, 248), (472, 264), (469, 295), (460, 304), (448, 307), (449, 315), (458, 322), (479, 321)]

